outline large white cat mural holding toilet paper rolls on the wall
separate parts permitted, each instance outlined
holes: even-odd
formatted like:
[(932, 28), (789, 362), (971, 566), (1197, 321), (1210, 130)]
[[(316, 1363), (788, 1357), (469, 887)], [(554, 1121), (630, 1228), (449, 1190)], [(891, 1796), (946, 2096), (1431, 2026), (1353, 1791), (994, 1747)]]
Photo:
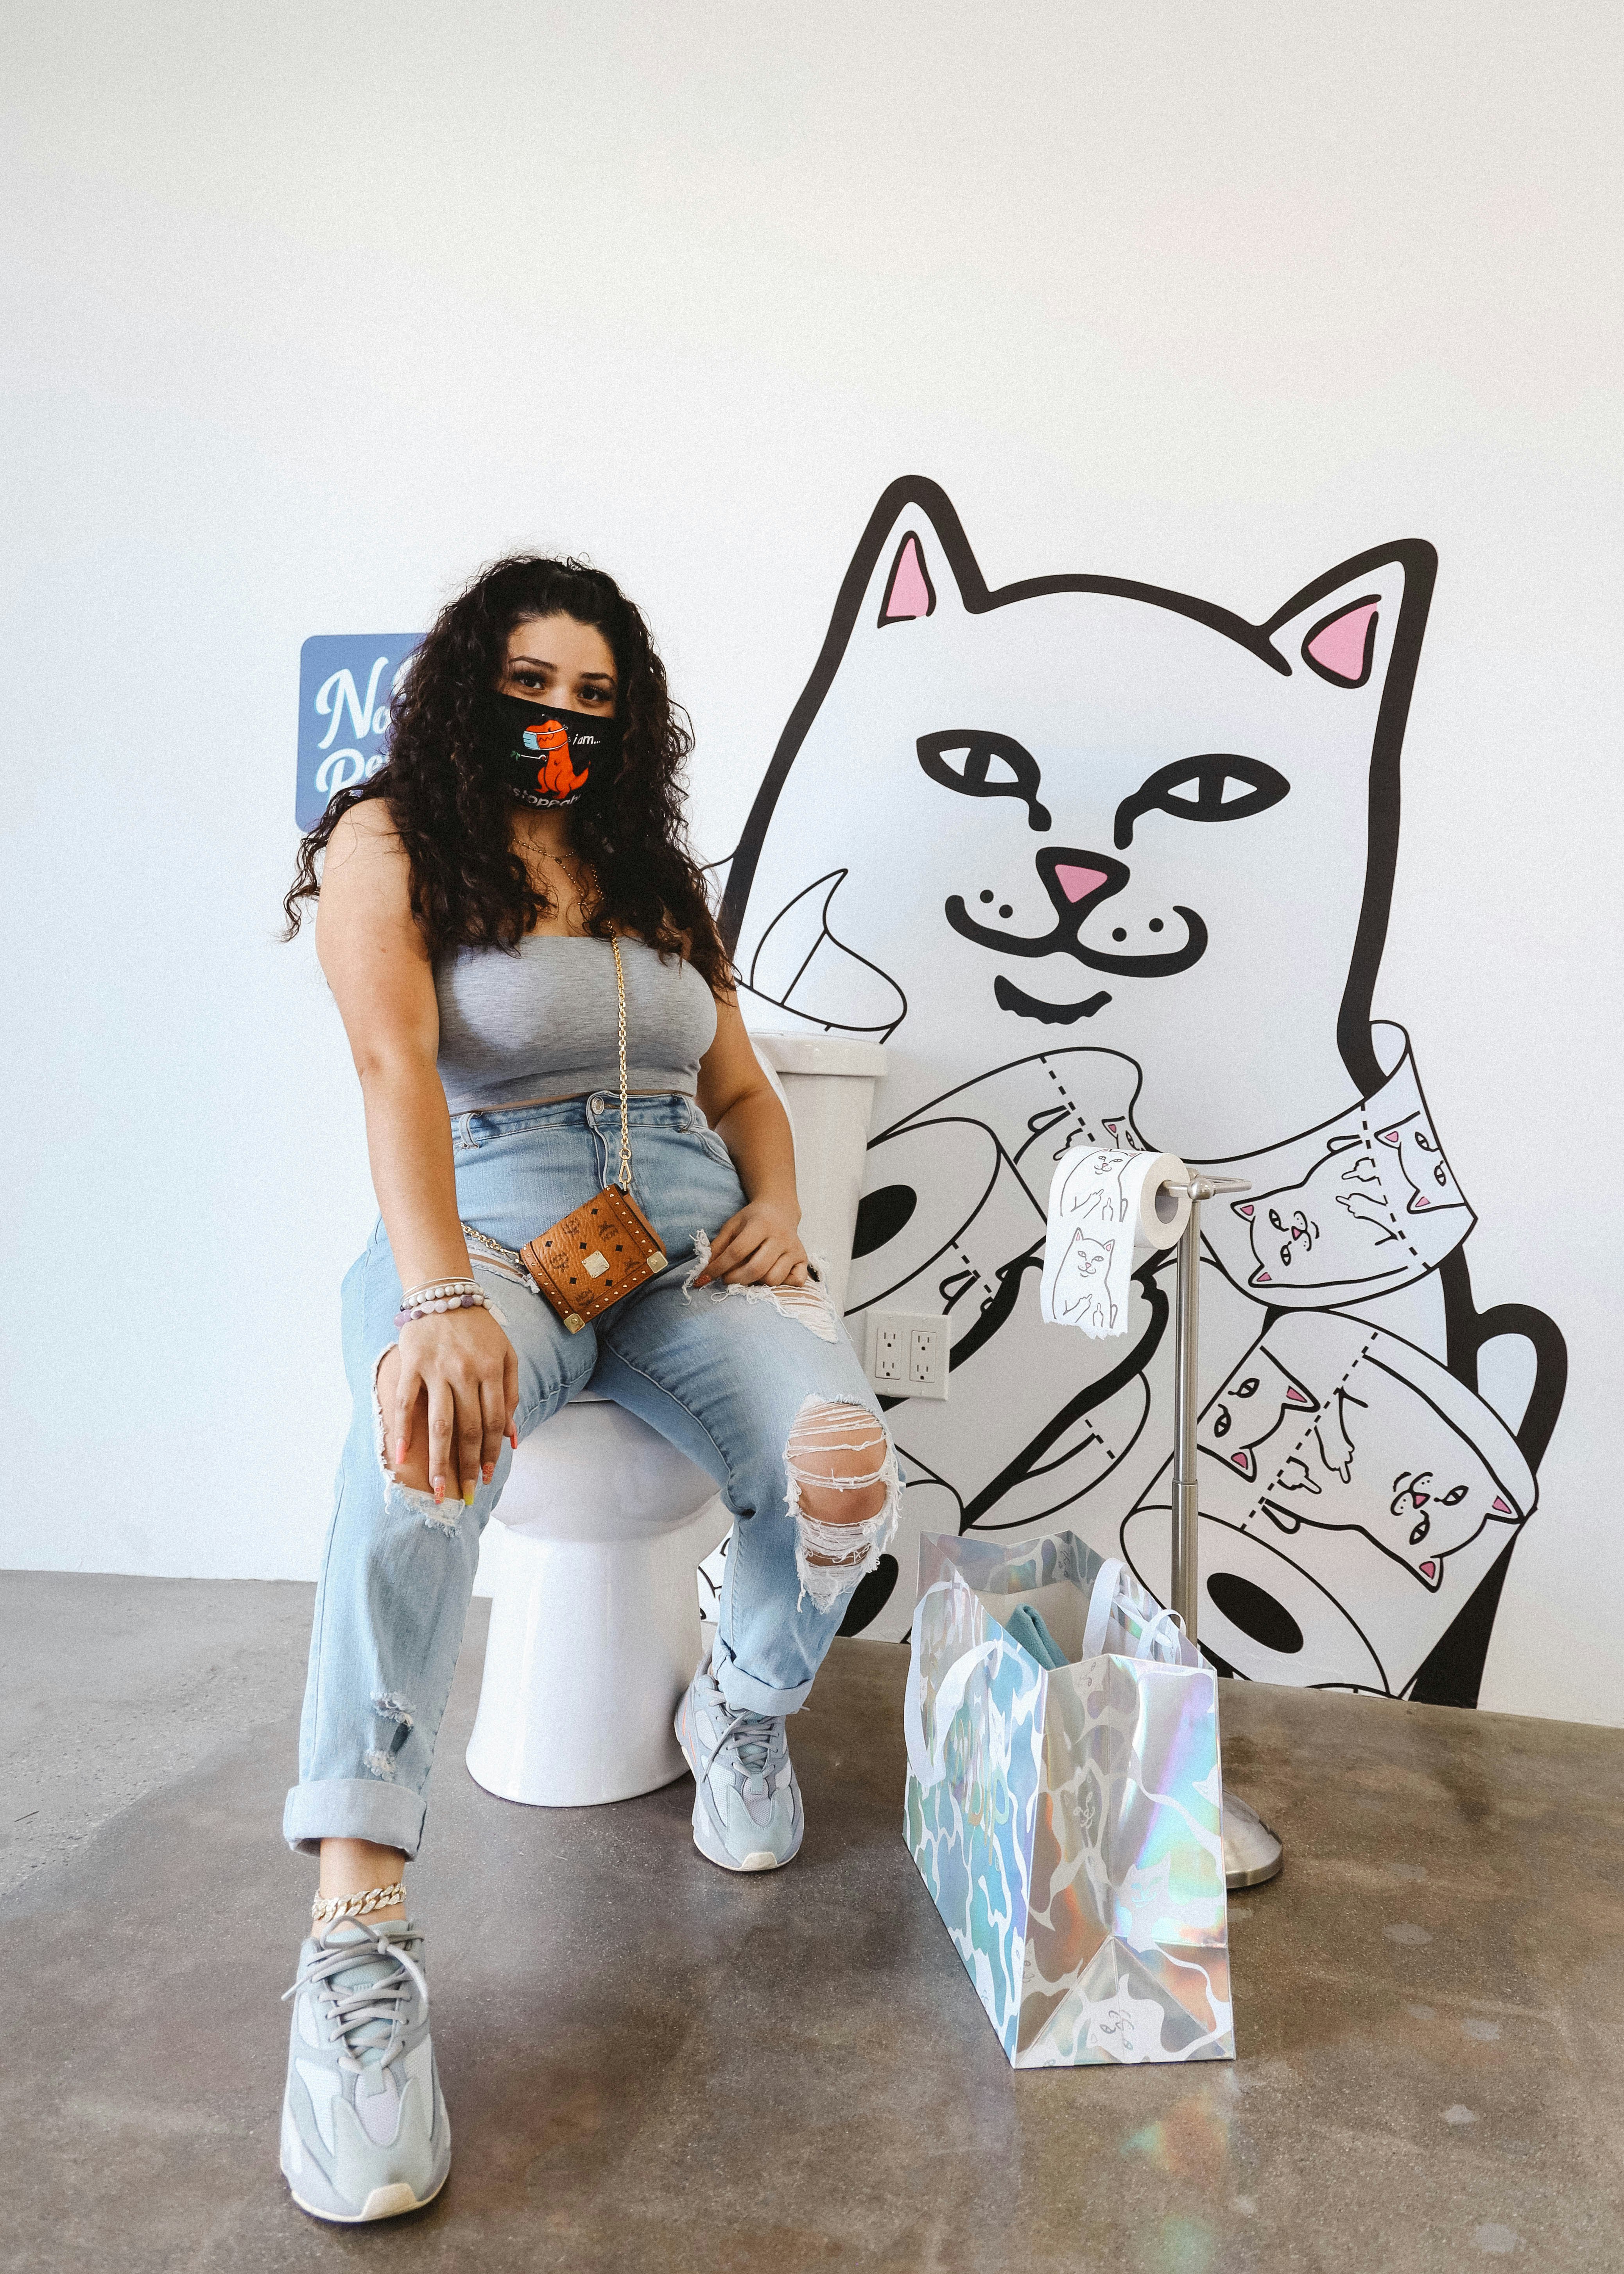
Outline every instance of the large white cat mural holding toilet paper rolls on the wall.
[[(1565, 1351), (1538, 1310), (1474, 1310), (1472, 1207), (1372, 1021), (1433, 573), (1394, 543), (1262, 625), (1103, 575), (989, 591), (942, 489), (880, 498), (723, 930), (755, 1023), (889, 1046), (848, 1303), (951, 1333), (951, 1399), (894, 1414), (905, 1574), (919, 1530), (1064, 1510), (1165, 1587), (1171, 1260), (1115, 1342), (1046, 1328), (1037, 1285), (1055, 1155), (1167, 1148), (1251, 1182), (1203, 1217), (1203, 1644), (1476, 1699)], [(1501, 1335), (1535, 1360), (1503, 1417), (1476, 1394)], [(892, 1565), (846, 1628), (910, 1610)]]

